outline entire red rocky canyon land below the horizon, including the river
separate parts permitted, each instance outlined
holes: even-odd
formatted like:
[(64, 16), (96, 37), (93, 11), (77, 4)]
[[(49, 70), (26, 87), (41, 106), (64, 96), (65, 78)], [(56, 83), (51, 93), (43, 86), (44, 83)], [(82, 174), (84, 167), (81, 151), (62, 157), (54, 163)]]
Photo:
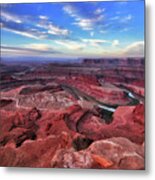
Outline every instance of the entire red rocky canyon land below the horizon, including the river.
[(145, 168), (143, 64), (1, 67), (1, 166)]

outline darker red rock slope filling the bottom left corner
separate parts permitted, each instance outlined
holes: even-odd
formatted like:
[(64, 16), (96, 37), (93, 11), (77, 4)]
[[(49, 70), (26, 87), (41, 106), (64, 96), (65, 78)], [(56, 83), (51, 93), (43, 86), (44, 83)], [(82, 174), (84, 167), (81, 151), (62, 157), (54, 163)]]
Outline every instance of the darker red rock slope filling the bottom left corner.
[(55, 151), (69, 148), (70, 140), (66, 132), (59, 136), (48, 136), (35, 141), (27, 140), (19, 148), (0, 148), (0, 165), (17, 167), (50, 167)]

